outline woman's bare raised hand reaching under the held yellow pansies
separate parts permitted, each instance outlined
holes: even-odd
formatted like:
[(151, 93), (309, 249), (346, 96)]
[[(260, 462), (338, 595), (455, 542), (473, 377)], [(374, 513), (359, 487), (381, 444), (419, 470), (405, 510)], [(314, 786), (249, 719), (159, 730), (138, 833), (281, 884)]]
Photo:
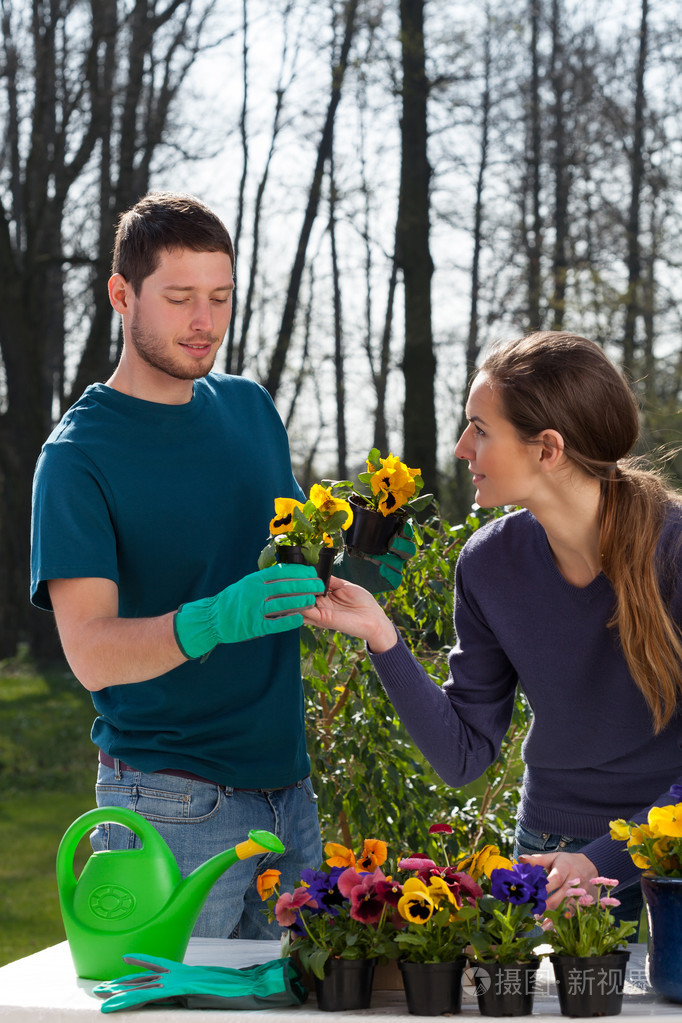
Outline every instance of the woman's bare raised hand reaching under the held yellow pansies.
[(383, 654), (398, 642), (391, 619), (372, 594), (345, 579), (332, 576), (326, 596), (318, 596), (314, 606), (302, 613), (307, 625), (358, 636), (373, 654)]

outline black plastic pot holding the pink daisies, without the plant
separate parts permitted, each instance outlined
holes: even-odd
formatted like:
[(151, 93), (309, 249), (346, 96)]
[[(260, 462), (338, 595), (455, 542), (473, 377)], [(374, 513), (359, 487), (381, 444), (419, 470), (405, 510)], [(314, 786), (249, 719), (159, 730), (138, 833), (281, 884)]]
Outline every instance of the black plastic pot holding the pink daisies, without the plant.
[(550, 955), (563, 1016), (618, 1016), (623, 1008), (629, 951), (608, 955)]

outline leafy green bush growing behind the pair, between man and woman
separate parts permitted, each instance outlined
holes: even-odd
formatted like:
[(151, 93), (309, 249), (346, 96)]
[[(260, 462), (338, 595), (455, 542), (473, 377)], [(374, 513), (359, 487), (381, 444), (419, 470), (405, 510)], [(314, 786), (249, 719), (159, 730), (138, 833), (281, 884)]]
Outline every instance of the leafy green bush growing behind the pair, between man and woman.
[[(469, 536), (492, 516), (473, 511), (451, 525), (435, 515), (424, 544), (407, 563), (403, 585), (383, 599), (390, 617), (431, 678), (448, 677), (455, 565)], [(461, 850), (481, 840), (511, 851), (522, 771), (520, 744), (530, 720), (518, 696), (500, 756), (484, 779), (453, 790), (424, 761), (400, 722), (364, 643), (340, 633), (302, 631), (302, 665), (313, 784), (322, 833), (347, 846), (381, 835), (403, 855), (423, 850), (434, 820), (451, 820)], [(405, 812), (409, 807), (409, 813)]]

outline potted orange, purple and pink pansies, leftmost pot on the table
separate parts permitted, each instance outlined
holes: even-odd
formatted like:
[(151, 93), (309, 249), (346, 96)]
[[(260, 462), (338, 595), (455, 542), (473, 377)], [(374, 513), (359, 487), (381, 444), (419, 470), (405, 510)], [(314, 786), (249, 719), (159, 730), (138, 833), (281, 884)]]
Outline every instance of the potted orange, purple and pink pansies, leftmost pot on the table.
[(269, 913), (284, 929), (282, 954), (292, 955), (314, 976), (318, 1007), (335, 1012), (366, 1009), (374, 967), (398, 954), (394, 943), (399, 889), (381, 871), (385, 843), (367, 840), (356, 857), (329, 843), (324, 869), (301, 872), (301, 885), (279, 892), (269, 878), (259, 879)]

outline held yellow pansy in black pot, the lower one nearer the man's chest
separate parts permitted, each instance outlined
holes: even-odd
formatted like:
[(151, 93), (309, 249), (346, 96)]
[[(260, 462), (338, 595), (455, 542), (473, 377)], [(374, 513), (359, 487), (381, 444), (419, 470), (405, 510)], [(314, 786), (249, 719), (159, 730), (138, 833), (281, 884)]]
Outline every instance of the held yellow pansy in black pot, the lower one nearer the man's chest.
[(277, 562), (312, 565), (328, 584), (336, 547), (340, 546), (340, 530), (353, 522), (349, 502), (315, 483), (305, 504), (292, 497), (276, 497), (274, 510), (259, 569)]

